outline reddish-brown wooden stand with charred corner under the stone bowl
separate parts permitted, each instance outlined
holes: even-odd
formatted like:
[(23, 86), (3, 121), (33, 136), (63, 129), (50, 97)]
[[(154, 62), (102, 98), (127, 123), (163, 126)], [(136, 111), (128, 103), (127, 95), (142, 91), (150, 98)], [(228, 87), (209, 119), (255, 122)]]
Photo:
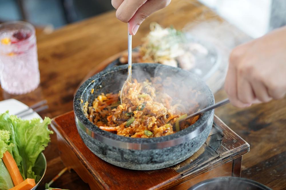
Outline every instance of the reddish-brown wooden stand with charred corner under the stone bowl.
[[(93, 189), (188, 189), (212, 177), (241, 174), (242, 155), (249, 144), (228, 128), (217, 116), (210, 135), (191, 157), (174, 166), (136, 171), (111, 165), (94, 155), (84, 144), (78, 131), (74, 112), (53, 119), (63, 163), (74, 169)], [(120, 175), (118, 175), (120, 174)], [(183, 184), (182, 184), (183, 183)]]

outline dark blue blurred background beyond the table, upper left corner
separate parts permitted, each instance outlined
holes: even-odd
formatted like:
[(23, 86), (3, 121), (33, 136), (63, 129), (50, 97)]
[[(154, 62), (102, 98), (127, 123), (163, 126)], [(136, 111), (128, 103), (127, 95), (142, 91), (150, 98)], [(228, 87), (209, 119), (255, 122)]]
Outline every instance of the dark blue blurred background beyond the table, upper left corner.
[(109, 0), (0, 0), (0, 22), (58, 28), (113, 9)]

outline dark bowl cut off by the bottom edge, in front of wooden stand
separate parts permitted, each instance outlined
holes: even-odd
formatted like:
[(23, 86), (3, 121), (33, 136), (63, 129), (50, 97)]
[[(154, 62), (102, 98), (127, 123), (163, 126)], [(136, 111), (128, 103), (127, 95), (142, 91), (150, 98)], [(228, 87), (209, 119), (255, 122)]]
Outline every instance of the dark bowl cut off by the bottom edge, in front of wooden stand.
[(217, 177), (197, 183), (188, 190), (271, 190), (256, 181), (239, 177)]

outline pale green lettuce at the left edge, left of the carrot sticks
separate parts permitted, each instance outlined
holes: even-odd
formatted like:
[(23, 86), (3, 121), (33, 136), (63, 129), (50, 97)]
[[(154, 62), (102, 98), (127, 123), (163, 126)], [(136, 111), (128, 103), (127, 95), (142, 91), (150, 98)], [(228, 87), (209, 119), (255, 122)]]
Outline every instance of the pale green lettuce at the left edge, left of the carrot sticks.
[(12, 153), (13, 144), (9, 143), (9, 139), (10, 139), (9, 131), (0, 130), (0, 189), (1, 190), (7, 190), (14, 187), (10, 174), (2, 161), (3, 154), (7, 150), (10, 153)]

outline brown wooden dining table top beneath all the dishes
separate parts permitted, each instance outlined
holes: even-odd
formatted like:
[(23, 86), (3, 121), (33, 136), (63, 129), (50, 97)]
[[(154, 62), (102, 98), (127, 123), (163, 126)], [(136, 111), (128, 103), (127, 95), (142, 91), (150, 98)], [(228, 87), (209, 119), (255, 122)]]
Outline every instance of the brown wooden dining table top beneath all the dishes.
[[(133, 37), (133, 46), (149, 31), (151, 21), (162, 26), (181, 29), (190, 22), (222, 21), (215, 13), (196, 1), (173, 0), (171, 4), (149, 17)], [(34, 92), (22, 96), (9, 95), (1, 90), (0, 100), (15, 98), (31, 105), (46, 99), (49, 109), (40, 113), (53, 118), (72, 110), (74, 92), (88, 71), (106, 58), (127, 48), (127, 25), (115, 18), (115, 11), (68, 25), (49, 35), (38, 35), (41, 84)], [(240, 43), (236, 36), (236, 42)], [(245, 37), (245, 36), (244, 36)], [(226, 97), (223, 90), (215, 95), (217, 101)], [(273, 189), (286, 188), (286, 98), (267, 104), (238, 109), (231, 105), (218, 108), (219, 116), (228, 126), (250, 144), (250, 152), (243, 157), (242, 177), (253, 179)], [(55, 134), (45, 149), (49, 182), (63, 167)], [(43, 189), (43, 185), (39, 189)], [(59, 178), (53, 187), (88, 189), (72, 171)]]

